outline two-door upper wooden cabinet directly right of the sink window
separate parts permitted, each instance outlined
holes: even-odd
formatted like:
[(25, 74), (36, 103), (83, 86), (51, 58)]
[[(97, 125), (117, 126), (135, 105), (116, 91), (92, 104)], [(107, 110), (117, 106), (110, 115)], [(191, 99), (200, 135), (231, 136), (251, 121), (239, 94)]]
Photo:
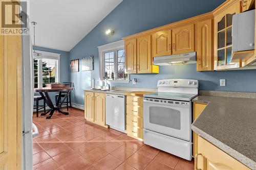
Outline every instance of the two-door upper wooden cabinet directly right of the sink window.
[(159, 66), (153, 65), (151, 35), (124, 40), (125, 73), (159, 73)]

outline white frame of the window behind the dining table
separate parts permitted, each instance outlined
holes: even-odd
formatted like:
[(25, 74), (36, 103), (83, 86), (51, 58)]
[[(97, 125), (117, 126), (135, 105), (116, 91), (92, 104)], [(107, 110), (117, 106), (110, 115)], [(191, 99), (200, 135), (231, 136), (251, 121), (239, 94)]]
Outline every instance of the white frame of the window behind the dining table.
[[(55, 66), (56, 66), (55, 82), (59, 83), (60, 82), (59, 81), (59, 78), (60, 78), (60, 54), (45, 52), (45, 51), (38, 51), (38, 50), (36, 50), (35, 52), (41, 54), (40, 56), (35, 56), (33, 54), (33, 59), (37, 59), (37, 88), (42, 88), (42, 59), (55, 60)], [(33, 71), (33, 81), (34, 81), (34, 71)], [(33, 83), (33, 85), (34, 85), (34, 83)]]

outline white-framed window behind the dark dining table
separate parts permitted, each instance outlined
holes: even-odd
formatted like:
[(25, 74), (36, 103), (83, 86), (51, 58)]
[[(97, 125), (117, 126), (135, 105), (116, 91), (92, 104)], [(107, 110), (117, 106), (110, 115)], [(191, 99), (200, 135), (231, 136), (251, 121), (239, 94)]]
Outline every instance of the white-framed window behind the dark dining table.
[(46, 87), (46, 84), (59, 82), (59, 54), (38, 53), (41, 55), (34, 56), (34, 88)]

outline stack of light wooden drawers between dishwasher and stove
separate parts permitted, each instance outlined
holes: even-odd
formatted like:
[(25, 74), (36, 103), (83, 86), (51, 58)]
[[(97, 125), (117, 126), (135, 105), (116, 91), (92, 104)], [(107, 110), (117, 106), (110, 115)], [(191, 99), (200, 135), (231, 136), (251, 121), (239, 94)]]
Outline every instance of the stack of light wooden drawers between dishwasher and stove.
[(143, 141), (143, 98), (126, 96), (127, 135)]

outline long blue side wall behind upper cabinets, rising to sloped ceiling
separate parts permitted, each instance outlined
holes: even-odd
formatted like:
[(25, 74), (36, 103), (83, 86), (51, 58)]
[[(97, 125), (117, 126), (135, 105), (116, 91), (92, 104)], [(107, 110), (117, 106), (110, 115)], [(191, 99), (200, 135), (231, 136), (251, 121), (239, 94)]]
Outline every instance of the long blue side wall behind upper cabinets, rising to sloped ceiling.
[[(141, 31), (166, 25), (214, 10), (224, 0), (123, 0), (70, 52), (70, 59), (81, 59), (93, 55), (93, 71), (71, 72), (70, 81), (74, 82), (74, 103), (83, 105), (83, 90), (91, 88), (91, 80), (98, 79), (97, 46), (114, 42)], [(114, 29), (114, 36), (104, 34), (106, 29)], [(82, 31), (82, 30), (79, 30)], [(115, 83), (115, 86), (156, 88), (157, 81), (170, 78), (198, 79), (201, 90), (256, 91), (256, 70), (197, 72), (196, 64), (161, 66), (159, 74), (131, 75), (138, 79), (137, 85)], [(219, 79), (226, 79), (226, 87), (219, 86)]]

